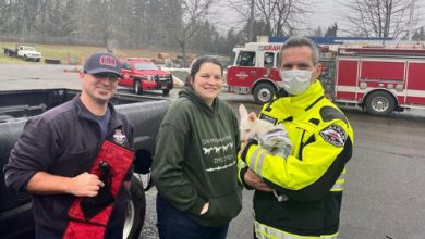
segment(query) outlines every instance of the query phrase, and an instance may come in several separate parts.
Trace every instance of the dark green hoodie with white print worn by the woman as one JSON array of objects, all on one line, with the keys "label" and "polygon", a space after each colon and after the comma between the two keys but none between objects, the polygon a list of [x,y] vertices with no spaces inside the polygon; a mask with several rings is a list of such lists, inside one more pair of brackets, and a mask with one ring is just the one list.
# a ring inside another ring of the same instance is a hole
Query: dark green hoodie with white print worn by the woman
[{"label": "dark green hoodie with white print worn by the woman", "polygon": [[[226,225],[242,209],[238,150],[238,118],[230,106],[216,98],[211,109],[183,88],[157,137],[151,175],[158,193],[202,226]],[[199,215],[206,202],[208,212]]]}]

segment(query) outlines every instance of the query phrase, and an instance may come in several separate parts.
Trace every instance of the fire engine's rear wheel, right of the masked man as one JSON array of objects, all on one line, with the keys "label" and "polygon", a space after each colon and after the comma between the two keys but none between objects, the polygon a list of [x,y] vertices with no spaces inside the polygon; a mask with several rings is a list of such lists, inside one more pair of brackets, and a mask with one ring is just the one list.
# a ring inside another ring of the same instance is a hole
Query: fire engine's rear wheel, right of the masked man
[{"label": "fire engine's rear wheel, right of the masked man", "polygon": [[375,91],[367,96],[365,106],[372,115],[386,116],[396,109],[396,101],[387,91]]}]

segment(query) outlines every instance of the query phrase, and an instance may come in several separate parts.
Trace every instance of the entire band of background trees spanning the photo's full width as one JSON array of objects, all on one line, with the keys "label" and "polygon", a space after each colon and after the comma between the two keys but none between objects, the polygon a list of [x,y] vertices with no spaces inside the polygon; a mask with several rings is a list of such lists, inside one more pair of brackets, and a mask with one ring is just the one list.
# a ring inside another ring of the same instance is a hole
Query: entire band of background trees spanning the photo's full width
[{"label": "entire band of background trees spanning the photo's full width", "polygon": [[[220,2],[223,0],[2,0],[0,35],[27,42],[105,46],[109,51],[153,48],[179,50],[183,55],[186,51],[229,55],[235,45],[255,40],[250,36],[337,36],[338,32],[405,39],[408,26],[416,26],[421,15],[417,8],[414,14],[409,11],[417,0],[336,1],[342,14],[338,25],[328,26],[325,33],[320,27],[306,32],[317,1],[228,0],[226,8],[235,12],[234,27],[222,32],[211,21],[218,11],[228,11],[214,10]],[[418,27],[414,37],[421,40],[423,33]]]}]

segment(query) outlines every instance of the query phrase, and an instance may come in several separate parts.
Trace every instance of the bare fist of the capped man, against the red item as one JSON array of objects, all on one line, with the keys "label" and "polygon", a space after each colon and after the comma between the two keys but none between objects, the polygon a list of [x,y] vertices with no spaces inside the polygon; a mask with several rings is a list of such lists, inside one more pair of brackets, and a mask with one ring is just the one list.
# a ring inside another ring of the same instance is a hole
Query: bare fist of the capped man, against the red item
[{"label": "bare fist of the capped man, against the red item", "polygon": [[71,178],[69,192],[76,197],[95,197],[105,184],[95,174],[87,172]]}]

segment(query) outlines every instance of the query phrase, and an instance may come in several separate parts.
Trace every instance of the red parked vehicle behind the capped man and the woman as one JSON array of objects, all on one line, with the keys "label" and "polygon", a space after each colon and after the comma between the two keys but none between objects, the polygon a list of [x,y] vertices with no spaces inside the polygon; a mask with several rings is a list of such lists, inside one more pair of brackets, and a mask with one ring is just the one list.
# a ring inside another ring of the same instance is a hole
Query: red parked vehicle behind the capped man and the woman
[{"label": "red parked vehicle behind the capped man and the woman", "polygon": [[160,70],[150,59],[126,58],[120,61],[124,76],[119,80],[120,86],[132,87],[137,95],[145,90],[162,90],[166,96],[173,88],[171,73]]}]

